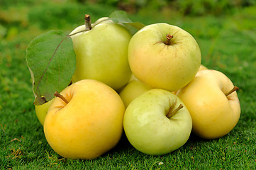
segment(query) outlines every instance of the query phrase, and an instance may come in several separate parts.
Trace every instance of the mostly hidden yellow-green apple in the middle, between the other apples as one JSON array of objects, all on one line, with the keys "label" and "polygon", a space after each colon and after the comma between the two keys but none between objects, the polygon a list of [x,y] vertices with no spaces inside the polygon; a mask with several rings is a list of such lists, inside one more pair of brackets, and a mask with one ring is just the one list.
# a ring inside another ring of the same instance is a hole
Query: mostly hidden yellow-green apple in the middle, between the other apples
[{"label": "mostly hidden yellow-green apple in the middle, between the other apples", "polygon": [[122,98],[123,103],[127,108],[134,98],[140,96],[140,94],[143,94],[149,89],[151,88],[142,82],[138,80],[132,80],[122,89],[122,91],[119,93],[119,96]]}]

